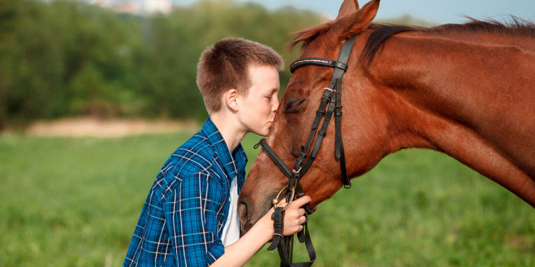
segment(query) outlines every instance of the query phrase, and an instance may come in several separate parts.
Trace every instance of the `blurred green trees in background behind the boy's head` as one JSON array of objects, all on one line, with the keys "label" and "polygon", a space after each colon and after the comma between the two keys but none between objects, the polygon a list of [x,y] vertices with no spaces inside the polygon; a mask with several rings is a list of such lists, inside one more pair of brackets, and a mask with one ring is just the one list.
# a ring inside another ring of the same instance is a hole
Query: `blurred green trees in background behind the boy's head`
[{"label": "blurred green trees in background behind the boy's head", "polygon": [[[114,13],[79,1],[0,1],[0,130],[36,119],[206,117],[196,88],[201,51],[220,38],[256,40],[297,58],[289,32],[315,13],[200,1],[170,15]],[[290,73],[281,74],[288,81]],[[284,84],[281,84],[284,86]]]}]

